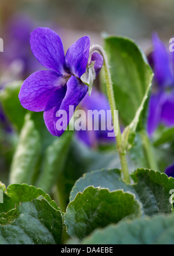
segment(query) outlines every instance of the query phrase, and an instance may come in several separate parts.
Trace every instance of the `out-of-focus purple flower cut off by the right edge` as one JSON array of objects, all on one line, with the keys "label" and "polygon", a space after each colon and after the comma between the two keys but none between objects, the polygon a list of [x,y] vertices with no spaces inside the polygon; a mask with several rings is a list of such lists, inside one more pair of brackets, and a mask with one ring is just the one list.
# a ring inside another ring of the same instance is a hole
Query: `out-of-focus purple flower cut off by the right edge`
[{"label": "out-of-focus purple flower cut off by the right edge", "polygon": [[153,52],[148,60],[154,70],[154,84],[149,102],[147,131],[153,135],[158,125],[174,125],[174,59],[153,34]]}]

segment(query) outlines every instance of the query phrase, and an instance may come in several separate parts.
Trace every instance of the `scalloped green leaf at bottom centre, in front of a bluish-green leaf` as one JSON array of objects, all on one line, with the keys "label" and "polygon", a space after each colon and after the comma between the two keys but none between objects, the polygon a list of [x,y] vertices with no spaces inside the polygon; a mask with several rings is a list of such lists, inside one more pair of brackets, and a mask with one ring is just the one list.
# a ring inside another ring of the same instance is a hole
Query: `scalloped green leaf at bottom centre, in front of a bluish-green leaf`
[{"label": "scalloped green leaf at bottom centre, in front of a bluish-green leaf", "polygon": [[97,227],[140,215],[140,204],[133,194],[90,186],[70,202],[64,214],[64,223],[71,237],[82,239]]}]

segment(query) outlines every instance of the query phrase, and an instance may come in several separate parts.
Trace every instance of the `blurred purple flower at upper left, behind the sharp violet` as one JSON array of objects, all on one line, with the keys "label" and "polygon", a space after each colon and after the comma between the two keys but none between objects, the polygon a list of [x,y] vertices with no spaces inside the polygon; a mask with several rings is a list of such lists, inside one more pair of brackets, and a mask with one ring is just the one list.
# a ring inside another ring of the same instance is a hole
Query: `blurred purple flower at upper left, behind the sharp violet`
[{"label": "blurred purple flower at upper left, behind the sharp violet", "polygon": [[33,20],[24,15],[13,16],[6,25],[2,70],[7,69],[9,79],[26,79],[34,70],[41,69],[30,49],[30,33],[34,27]]}]

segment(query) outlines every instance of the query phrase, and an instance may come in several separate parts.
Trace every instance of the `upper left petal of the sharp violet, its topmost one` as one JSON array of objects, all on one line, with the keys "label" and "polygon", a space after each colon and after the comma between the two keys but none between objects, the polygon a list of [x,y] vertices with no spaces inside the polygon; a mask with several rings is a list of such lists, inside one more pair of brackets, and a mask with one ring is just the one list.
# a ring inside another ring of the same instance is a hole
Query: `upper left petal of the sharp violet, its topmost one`
[{"label": "upper left petal of the sharp violet, its topmost one", "polygon": [[30,37],[31,50],[38,61],[47,69],[66,74],[64,49],[61,38],[47,27],[38,27]]}]

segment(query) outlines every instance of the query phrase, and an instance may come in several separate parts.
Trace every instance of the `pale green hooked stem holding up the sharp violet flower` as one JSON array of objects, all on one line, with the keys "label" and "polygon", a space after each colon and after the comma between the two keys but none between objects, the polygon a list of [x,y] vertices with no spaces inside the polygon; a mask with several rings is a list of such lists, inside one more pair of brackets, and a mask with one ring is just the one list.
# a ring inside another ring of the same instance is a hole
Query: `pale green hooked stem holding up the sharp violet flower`
[{"label": "pale green hooked stem holding up the sharp violet flower", "polygon": [[[129,176],[129,170],[128,170],[128,163],[126,159],[126,150],[123,146],[123,141],[122,141],[122,136],[121,136],[121,129],[119,126],[119,121],[118,121],[118,116],[117,116],[117,109],[115,105],[115,98],[114,98],[114,90],[113,90],[113,83],[111,81],[111,74],[109,70],[109,65],[107,61],[107,55],[104,52],[104,49],[100,47],[100,45],[93,45],[92,48],[90,49],[90,54],[89,54],[89,60],[91,59],[91,56],[94,52],[98,52],[103,56],[103,67],[104,67],[104,74],[106,77],[106,88],[107,88],[107,96],[108,96],[108,101],[110,103],[110,108],[111,108],[111,113],[113,117],[113,123],[114,123],[114,131],[117,137],[117,150],[119,154],[119,158],[121,161],[121,168],[122,172],[124,175],[124,180],[126,183],[130,183],[131,179]],[[118,123],[117,123],[118,122]]]}]

